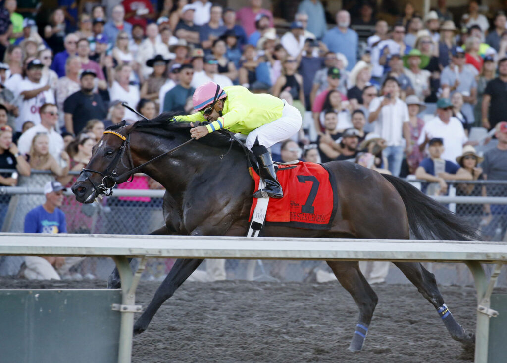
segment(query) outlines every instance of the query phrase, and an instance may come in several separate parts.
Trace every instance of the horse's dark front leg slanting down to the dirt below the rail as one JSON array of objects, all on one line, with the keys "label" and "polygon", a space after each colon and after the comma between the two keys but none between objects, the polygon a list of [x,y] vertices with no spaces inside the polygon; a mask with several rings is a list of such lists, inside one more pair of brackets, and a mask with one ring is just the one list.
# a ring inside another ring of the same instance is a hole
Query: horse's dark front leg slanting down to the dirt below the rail
[{"label": "horse's dark front leg slanting down to the dirt below the rail", "polygon": [[155,292],[152,301],[134,324],[134,334],[140,334],[146,330],[150,321],[160,306],[169,299],[174,291],[187,280],[187,278],[199,267],[203,259],[178,258],[169,274]]}]

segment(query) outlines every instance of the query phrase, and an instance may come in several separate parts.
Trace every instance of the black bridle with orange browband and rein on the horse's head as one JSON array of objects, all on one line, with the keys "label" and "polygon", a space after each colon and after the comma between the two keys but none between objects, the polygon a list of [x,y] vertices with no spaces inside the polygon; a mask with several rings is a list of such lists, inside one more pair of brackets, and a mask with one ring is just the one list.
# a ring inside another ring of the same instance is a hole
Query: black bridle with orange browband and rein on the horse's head
[{"label": "black bridle with orange browband and rein on the horse's head", "polygon": [[[127,136],[123,136],[120,133],[117,133],[116,131],[106,130],[106,131],[104,131],[104,135],[105,134],[112,134],[112,135],[118,136],[120,139],[123,140],[123,142],[122,142],[122,145],[120,146],[120,152],[118,152],[116,154],[115,158],[113,159],[113,161],[111,161],[111,163],[104,170],[104,172],[99,172],[98,170],[93,170],[93,169],[88,169],[88,168],[83,168],[83,170],[81,171],[81,173],[84,173],[84,175],[86,176],[86,179],[88,179],[90,181],[90,183],[92,184],[93,190],[95,191],[95,196],[113,195],[113,188],[116,186],[116,184],[118,184],[118,180],[121,180],[122,178],[124,178],[126,176],[130,176],[129,180],[127,180],[127,183],[130,183],[134,178],[134,173],[136,173],[138,170],[142,169],[147,164],[161,158],[162,156],[171,154],[174,151],[187,145],[192,140],[195,140],[193,138],[190,140],[187,140],[183,144],[180,144],[180,145],[172,148],[171,150],[164,152],[163,154],[155,156],[153,159],[150,159],[147,162],[144,162],[134,168],[134,162],[132,161],[132,155],[130,154],[130,132],[127,134]],[[128,166],[126,166],[123,161],[123,156],[125,153],[127,154],[127,157],[128,157],[128,162],[129,162]],[[125,168],[127,168],[128,171],[126,171],[125,173],[123,173],[121,175],[116,176],[116,173],[117,173],[116,167],[118,165],[118,161],[121,161],[122,165]],[[97,174],[101,175],[102,176],[102,183],[99,185],[95,185],[95,183],[90,178],[90,173],[97,173]]]}]

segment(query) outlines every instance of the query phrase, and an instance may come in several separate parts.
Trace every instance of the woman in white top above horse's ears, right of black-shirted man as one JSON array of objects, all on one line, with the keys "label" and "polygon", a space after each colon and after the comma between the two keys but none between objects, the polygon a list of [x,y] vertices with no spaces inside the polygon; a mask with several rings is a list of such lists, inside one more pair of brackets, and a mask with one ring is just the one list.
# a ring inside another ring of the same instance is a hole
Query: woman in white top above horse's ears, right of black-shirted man
[{"label": "woman in white top above horse's ears, right of black-shirted man", "polygon": [[[109,95],[111,100],[122,100],[134,108],[139,102],[139,88],[130,84],[130,74],[132,68],[128,64],[118,65],[115,69],[114,80],[111,79]],[[133,123],[139,119],[134,112],[125,110],[125,120],[127,123]]]}]

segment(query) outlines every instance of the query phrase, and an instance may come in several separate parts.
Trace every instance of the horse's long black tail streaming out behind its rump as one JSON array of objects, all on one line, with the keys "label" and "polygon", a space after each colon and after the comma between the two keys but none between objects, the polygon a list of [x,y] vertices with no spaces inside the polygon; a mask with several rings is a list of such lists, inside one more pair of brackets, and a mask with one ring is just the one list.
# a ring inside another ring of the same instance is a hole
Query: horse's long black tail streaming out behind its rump
[{"label": "horse's long black tail streaming out behind its rump", "polygon": [[410,226],[417,240],[480,240],[477,229],[406,181],[382,174],[402,197]]}]

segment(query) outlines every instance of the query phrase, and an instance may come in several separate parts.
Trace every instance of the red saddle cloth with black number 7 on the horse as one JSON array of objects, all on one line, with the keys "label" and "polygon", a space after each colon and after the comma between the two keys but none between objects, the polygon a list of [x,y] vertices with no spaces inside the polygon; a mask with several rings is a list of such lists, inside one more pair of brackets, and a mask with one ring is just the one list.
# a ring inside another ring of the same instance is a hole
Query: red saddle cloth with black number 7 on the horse
[{"label": "red saddle cloth with black number 7 on the horse", "polygon": [[[259,190],[259,175],[249,168]],[[296,165],[279,165],[276,174],[283,190],[283,198],[271,198],[266,214],[266,224],[289,227],[327,229],[331,226],[338,207],[336,181],[325,167],[313,162],[300,161]],[[251,221],[257,206],[253,198],[250,208]]]}]

